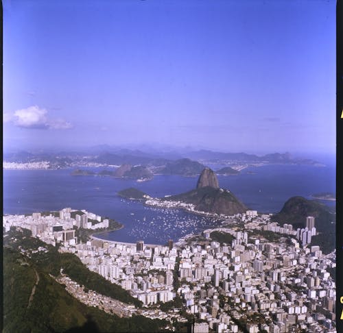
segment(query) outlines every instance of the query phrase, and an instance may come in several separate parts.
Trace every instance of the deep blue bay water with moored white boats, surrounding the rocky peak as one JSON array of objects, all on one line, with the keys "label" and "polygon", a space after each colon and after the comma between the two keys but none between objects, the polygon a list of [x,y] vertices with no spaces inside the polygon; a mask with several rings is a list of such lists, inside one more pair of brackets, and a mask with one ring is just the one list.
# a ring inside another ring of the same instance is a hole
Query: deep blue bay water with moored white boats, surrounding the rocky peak
[{"label": "deep blue bay water with moored white boats, surrounding the rocky peak", "polygon": [[[24,214],[65,207],[86,209],[123,223],[121,230],[102,234],[102,238],[130,243],[144,240],[165,244],[169,239],[178,240],[219,223],[217,219],[183,210],[148,208],[117,196],[119,190],[128,187],[139,188],[152,197],[174,195],[195,188],[198,177],[156,175],[151,181],[139,183],[113,177],[71,176],[71,171],[4,170],[3,213]],[[278,212],[289,197],[300,195],[311,199],[314,193],[335,193],[335,166],[250,167],[240,175],[219,176],[218,180],[222,188],[232,191],[248,208]]]}]

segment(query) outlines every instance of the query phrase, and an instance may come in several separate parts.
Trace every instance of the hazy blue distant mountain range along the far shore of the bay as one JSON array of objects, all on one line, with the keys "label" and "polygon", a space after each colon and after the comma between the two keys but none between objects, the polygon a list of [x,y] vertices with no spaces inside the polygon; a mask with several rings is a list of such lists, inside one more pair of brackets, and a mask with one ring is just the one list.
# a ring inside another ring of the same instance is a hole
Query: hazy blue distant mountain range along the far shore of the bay
[{"label": "hazy blue distant mountain range along the far shore of the bay", "polygon": [[[172,175],[198,175],[206,164],[319,164],[314,160],[293,158],[289,153],[270,153],[257,156],[248,153],[222,153],[209,150],[190,151],[188,153],[154,152],[145,153],[137,149],[118,149],[117,151],[62,151],[60,153],[30,153],[20,151],[5,153],[4,162],[41,162],[50,163],[51,169],[64,167],[101,164],[103,166],[119,166],[131,164],[156,168],[156,173]],[[221,171],[222,173],[224,171]],[[225,174],[233,174],[225,172]]]}]

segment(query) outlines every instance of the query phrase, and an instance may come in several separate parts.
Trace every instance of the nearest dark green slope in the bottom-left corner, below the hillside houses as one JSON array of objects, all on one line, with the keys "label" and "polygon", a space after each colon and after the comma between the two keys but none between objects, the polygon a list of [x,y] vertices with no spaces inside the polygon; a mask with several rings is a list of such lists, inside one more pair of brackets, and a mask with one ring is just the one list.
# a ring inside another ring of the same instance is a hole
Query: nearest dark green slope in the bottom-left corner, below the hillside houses
[{"label": "nearest dark green slope in the bottom-left corner, below the hillside houses", "polygon": [[[34,262],[8,247],[3,250],[3,332],[162,332],[167,324],[141,316],[119,318],[87,307]],[[39,282],[31,305],[29,295]],[[88,331],[88,329],[92,329]]]}]

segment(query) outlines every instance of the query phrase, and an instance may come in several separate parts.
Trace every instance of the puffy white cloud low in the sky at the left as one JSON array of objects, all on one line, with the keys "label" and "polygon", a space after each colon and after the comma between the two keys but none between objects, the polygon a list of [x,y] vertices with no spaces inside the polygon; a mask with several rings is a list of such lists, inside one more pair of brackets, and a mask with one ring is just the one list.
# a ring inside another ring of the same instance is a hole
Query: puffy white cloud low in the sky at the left
[{"label": "puffy white cloud low in the sky at the left", "polygon": [[46,109],[29,106],[26,109],[16,110],[14,114],[3,114],[3,122],[12,121],[18,127],[43,130],[67,130],[73,127],[64,119],[50,119],[47,113]]}]

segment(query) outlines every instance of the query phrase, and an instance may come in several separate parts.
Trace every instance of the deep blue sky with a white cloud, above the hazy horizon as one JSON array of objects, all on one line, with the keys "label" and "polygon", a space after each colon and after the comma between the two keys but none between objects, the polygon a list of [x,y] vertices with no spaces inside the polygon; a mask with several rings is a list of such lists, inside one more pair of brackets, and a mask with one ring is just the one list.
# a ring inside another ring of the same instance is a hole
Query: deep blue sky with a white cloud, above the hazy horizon
[{"label": "deep blue sky with a white cloud, above the hazy horizon", "polygon": [[335,151],[335,1],[4,0],[5,148]]}]

